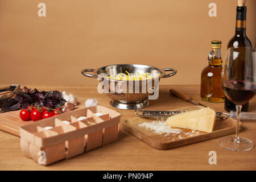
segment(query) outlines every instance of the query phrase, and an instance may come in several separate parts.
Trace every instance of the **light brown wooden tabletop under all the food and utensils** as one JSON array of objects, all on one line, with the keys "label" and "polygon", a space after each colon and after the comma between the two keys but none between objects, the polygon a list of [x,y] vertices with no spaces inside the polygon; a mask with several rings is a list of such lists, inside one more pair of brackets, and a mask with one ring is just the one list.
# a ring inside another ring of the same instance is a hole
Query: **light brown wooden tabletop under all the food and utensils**
[{"label": "light brown wooden tabletop under all the food and utensils", "polygon": [[[6,85],[0,85],[6,86]],[[23,85],[22,85],[23,86]],[[119,110],[109,105],[110,98],[97,93],[96,86],[43,86],[26,85],[39,90],[59,90],[74,94],[80,105],[88,98],[97,98],[99,104],[117,110],[125,118],[135,117],[133,110]],[[210,104],[200,100],[200,85],[160,85],[158,100],[150,100],[148,110],[170,110],[192,106],[179,98],[170,96],[168,90],[174,88],[188,94],[199,102],[218,111],[224,111],[224,103]],[[256,111],[256,97],[250,101],[250,111]],[[256,122],[243,121],[241,137],[256,142]],[[221,137],[223,138],[223,137]],[[26,158],[20,150],[19,137],[0,131],[0,170],[255,170],[256,149],[234,152],[220,147],[220,138],[173,148],[156,150],[146,143],[120,130],[119,140],[75,158],[63,160],[51,166],[40,166]],[[216,151],[217,164],[210,165],[209,151]]]}]

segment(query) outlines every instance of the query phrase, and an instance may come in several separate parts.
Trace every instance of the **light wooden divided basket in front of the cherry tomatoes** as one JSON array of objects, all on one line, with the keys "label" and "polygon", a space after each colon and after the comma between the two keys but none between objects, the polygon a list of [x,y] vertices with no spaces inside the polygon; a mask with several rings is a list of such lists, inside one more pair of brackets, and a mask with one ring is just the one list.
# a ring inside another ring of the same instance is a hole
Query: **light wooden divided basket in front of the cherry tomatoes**
[{"label": "light wooden divided basket in front of the cherry tomatoes", "polygon": [[[102,113],[97,117],[95,113]],[[78,121],[80,116],[87,118]],[[20,146],[28,158],[49,165],[118,139],[120,114],[103,106],[73,110],[20,127]],[[69,121],[70,124],[63,121]],[[44,127],[51,126],[46,130]]]}]

